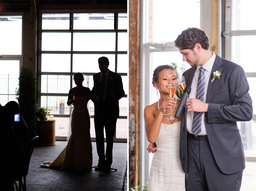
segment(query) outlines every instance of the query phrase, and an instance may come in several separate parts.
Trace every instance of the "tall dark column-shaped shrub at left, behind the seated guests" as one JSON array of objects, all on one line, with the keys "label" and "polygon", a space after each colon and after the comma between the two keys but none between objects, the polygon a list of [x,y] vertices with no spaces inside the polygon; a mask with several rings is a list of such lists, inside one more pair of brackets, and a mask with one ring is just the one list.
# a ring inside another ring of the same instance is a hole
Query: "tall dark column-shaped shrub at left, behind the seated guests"
[{"label": "tall dark column-shaped shrub at left, behind the seated guests", "polygon": [[16,99],[19,102],[20,113],[26,121],[35,118],[36,111],[36,78],[30,68],[21,67],[19,88],[16,88]]}]

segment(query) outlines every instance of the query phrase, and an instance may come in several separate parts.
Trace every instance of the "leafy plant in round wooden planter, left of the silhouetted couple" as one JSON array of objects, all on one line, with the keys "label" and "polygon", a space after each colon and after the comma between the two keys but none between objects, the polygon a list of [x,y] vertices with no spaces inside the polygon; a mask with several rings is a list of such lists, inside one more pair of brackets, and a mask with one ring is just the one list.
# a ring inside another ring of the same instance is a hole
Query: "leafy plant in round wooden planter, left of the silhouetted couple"
[{"label": "leafy plant in round wooden planter, left of the silhouetted couple", "polygon": [[47,120],[46,115],[51,110],[37,105],[35,112],[36,135],[38,135],[38,145],[55,145],[55,120]]}]

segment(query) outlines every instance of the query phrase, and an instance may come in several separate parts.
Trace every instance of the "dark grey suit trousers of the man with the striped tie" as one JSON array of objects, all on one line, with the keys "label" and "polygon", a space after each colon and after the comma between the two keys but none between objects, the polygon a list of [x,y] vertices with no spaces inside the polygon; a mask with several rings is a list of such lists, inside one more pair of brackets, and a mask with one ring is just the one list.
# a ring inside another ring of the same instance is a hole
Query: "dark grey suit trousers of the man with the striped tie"
[{"label": "dark grey suit trousers of the man with the striped tie", "polygon": [[187,134],[190,191],[239,191],[243,171],[224,174],[214,159],[207,135]]}]

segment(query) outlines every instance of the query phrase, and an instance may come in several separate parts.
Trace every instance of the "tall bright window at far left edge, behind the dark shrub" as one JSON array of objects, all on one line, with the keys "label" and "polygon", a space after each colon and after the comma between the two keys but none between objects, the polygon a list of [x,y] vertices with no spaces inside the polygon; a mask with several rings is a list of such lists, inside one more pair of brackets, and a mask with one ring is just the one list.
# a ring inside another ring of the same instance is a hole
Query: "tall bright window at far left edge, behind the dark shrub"
[{"label": "tall bright window at far left edge, behind the dark shrub", "polygon": [[17,101],[22,66],[23,13],[0,13],[0,103]]}]

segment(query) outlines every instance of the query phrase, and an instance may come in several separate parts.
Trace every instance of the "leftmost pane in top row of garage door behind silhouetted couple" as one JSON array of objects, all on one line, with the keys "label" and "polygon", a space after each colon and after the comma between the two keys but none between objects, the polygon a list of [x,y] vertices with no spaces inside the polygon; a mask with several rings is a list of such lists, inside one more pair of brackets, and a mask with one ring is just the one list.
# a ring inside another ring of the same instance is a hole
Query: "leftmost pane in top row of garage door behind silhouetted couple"
[{"label": "leftmost pane in top row of garage door behind silhouetted couple", "polygon": [[70,15],[42,14],[42,29],[69,29]]}]

